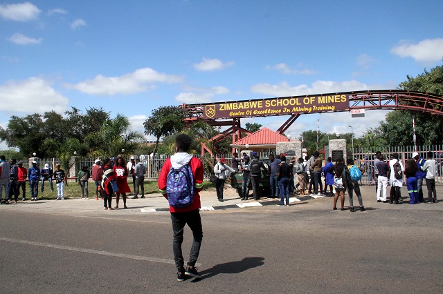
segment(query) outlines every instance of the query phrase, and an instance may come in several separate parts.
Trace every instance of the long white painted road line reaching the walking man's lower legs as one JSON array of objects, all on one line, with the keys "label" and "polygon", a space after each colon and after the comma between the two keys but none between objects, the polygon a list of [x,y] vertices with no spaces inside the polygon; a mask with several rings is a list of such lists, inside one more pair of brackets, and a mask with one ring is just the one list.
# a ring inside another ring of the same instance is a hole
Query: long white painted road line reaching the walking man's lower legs
[{"label": "long white painted road line reaching the walking man's lower legs", "polygon": [[[5,237],[0,237],[0,241],[33,245],[33,246],[41,246],[41,247],[47,247],[47,248],[56,248],[56,249],[62,249],[62,250],[67,250],[67,251],[76,251],[76,252],[82,252],[82,253],[92,253],[92,254],[106,255],[106,256],[112,256],[112,257],[123,257],[123,258],[127,258],[127,259],[143,260],[146,262],[161,262],[162,264],[175,264],[174,260],[172,260],[172,259],[147,257],[147,256],[139,256],[139,255],[131,255],[131,254],[122,254],[122,253],[113,253],[113,252],[99,251],[99,250],[94,250],[94,249],[76,248],[76,247],[72,247],[72,246],[34,242],[34,241],[28,241],[28,240],[19,240],[19,239],[10,239],[10,238],[5,238]],[[196,264],[196,265],[201,266],[201,264]]]}]

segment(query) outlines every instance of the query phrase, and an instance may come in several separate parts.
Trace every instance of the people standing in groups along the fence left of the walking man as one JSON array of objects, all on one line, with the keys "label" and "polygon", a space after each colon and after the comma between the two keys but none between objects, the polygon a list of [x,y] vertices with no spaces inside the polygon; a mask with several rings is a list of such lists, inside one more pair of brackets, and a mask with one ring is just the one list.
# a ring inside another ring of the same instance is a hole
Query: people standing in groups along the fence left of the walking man
[{"label": "people standing in groups along the fence left of the walking man", "polygon": [[[23,161],[10,159],[6,161],[4,155],[0,155],[0,204],[11,204],[21,200],[26,200],[26,182],[30,189],[30,200],[37,201],[40,193],[44,192],[44,183],[48,182],[51,191],[54,191],[53,180],[57,188],[57,200],[64,200],[64,186],[66,182],[66,173],[60,164],[55,164],[55,169],[49,164],[44,164],[44,168],[40,169],[38,162],[30,161],[30,168],[23,166]],[[134,179],[134,197],[138,198],[138,193],[145,198],[144,174],[145,166],[139,159],[131,157],[126,164],[123,156],[119,155],[114,161],[109,158],[101,160],[96,159],[91,170],[88,166],[82,166],[78,173],[77,182],[80,185],[80,195],[82,199],[89,199],[89,178],[92,176],[96,186],[96,200],[104,199],[105,209],[118,208],[120,195],[123,198],[123,208],[127,208],[127,195],[131,193],[131,189],[127,184],[127,176],[132,175]],[[40,190],[39,190],[40,186]],[[3,199],[3,190],[5,191]],[[21,193],[20,193],[21,190]],[[111,199],[116,196],[116,206],[112,208]]]}]

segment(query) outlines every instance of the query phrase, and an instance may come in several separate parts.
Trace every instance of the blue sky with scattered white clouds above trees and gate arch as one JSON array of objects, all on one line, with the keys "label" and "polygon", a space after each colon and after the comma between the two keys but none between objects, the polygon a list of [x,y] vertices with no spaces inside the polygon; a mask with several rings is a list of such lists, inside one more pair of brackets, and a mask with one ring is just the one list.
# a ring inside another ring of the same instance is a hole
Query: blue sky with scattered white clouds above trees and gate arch
[{"label": "blue sky with scattered white clouds above trees and gate arch", "polygon": [[[3,0],[0,126],[94,107],[143,132],[160,106],[396,89],[442,65],[442,12],[441,0]],[[386,113],[302,115],[285,133],[318,120],[322,132],[352,126],[359,137]]]}]

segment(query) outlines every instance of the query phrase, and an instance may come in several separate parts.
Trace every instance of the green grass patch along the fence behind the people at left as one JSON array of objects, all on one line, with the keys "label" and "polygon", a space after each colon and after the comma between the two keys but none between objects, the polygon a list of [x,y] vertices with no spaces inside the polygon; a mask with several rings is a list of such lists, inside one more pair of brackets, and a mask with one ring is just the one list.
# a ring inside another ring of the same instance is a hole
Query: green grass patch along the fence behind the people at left
[{"label": "green grass patch along the fence behind the people at left", "polygon": [[[131,188],[132,191],[132,181],[128,181],[127,183],[129,185],[129,188]],[[57,199],[57,187],[55,186],[55,181],[53,181],[54,191],[51,191],[51,186],[49,186],[49,183],[47,181],[44,182],[44,192],[41,192],[41,182],[39,182],[39,199]],[[215,188],[215,184],[205,181],[204,182],[204,190]],[[132,191],[134,192],[134,191]],[[152,181],[145,181],[145,194],[154,194],[159,193],[159,187],[157,186],[157,182]],[[88,183],[88,195],[89,198],[95,198],[96,197],[96,184],[94,182]],[[66,199],[73,199],[73,198],[81,198],[81,188],[80,184],[76,182],[69,182],[67,186],[64,186],[64,197]],[[21,190],[19,199],[21,199]],[[30,199],[30,188],[29,185],[26,184],[26,199]]]}]

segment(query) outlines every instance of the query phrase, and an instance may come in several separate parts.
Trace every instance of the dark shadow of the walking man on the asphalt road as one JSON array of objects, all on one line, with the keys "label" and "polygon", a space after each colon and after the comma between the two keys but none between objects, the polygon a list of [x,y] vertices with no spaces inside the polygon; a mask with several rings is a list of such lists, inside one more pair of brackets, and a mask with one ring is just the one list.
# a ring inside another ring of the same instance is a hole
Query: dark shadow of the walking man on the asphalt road
[{"label": "dark shadow of the walking man on the asphalt road", "polygon": [[[212,268],[208,268],[200,272],[202,278],[213,277],[220,273],[242,273],[250,268],[262,266],[264,264],[264,257],[244,257],[238,262],[226,262],[225,264],[217,264]],[[198,282],[199,279],[195,280]]]}]

